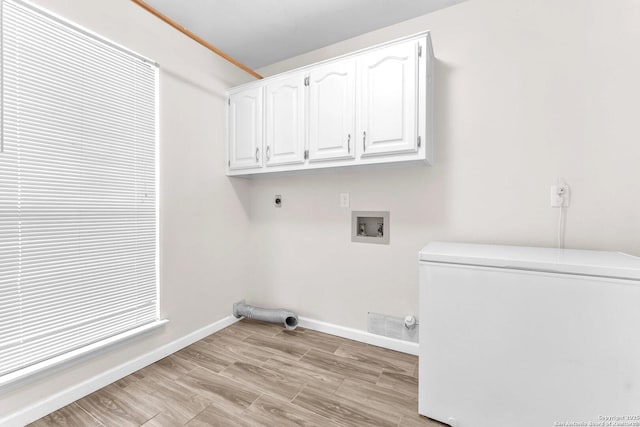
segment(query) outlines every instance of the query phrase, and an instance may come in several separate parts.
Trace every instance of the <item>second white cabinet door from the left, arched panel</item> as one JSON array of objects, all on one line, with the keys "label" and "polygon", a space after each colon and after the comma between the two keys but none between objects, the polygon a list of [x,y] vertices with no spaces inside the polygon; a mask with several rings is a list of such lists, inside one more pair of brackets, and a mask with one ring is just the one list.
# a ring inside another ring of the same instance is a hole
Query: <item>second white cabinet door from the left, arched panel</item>
[{"label": "second white cabinet door from the left, arched panel", "polygon": [[267,166],[304,162],[304,76],[278,79],[266,87]]}]

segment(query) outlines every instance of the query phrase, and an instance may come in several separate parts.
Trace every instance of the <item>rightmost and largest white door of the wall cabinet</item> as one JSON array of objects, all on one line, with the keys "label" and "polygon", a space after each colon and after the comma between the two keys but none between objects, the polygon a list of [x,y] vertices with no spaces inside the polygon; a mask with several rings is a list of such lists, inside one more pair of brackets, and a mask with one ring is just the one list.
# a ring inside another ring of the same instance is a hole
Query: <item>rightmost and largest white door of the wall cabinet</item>
[{"label": "rightmost and largest white door of the wall cabinet", "polygon": [[417,151],[418,42],[360,58],[361,156]]}]

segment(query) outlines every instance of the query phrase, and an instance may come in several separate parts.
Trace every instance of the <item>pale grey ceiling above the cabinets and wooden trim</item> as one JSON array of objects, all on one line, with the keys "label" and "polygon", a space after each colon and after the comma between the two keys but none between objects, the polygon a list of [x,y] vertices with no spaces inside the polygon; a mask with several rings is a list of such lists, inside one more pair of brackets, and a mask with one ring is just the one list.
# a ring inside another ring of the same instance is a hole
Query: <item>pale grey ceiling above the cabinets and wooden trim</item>
[{"label": "pale grey ceiling above the cabinets and wooden trim", "polygon": [[463,0],[147,0],[257,69]]}]

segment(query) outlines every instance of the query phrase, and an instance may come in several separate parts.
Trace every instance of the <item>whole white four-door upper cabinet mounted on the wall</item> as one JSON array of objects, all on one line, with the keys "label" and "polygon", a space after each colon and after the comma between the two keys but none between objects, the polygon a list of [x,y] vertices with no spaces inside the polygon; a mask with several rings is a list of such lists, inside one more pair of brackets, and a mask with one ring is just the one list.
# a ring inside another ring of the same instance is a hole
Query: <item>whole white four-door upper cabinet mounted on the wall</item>
[{"label": "whole white four-door upper cabinet mounted on the wall", "polygon": [[231,89],[227,174],[431,164],[433,63],[425,32]]}]

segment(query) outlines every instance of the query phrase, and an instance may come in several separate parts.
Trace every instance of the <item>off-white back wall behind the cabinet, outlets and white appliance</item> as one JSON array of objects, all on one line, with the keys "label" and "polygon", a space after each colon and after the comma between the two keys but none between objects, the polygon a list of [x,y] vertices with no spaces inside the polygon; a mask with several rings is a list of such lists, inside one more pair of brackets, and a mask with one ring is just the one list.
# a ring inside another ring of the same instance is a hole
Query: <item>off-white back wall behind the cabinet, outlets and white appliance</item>
[{"label": "off-white back wall behind the cabinet, outlets and white appliance", "polygon": [[[368,311],[417,313],[429,241],[554,246],[557,177],[567,247],[640,255],[639,21],[636,0],[470,0],[259,70],[431,30],[436,163],[254,179],[250,302],[358,329]],[[350,242],[340,192],[391,212],[389,246]]]}]

